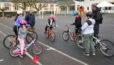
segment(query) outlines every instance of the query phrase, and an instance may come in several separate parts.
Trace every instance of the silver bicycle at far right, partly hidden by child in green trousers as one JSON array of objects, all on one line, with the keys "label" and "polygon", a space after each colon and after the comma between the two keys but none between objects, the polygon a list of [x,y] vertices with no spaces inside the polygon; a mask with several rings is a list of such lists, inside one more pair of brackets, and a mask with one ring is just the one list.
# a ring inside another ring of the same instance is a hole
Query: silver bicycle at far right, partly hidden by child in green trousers
[{"label": "silver bicycle at far right, partly hidden by child in green trousers", "polygon": [[[82,35],[83,38],[83,35]],[[100,50],[100,52],[104,55],[104,56],[108,56],[108,57],[112,57],[114,56],[114,44],[107,39],[98,39],[96,37],[93,36],[93,43],[94,43],[94,47],[96,50]],[[80,44],[80,43],[79,43]],[[84,40],[82,40],[82,46],[84,48]]]}]

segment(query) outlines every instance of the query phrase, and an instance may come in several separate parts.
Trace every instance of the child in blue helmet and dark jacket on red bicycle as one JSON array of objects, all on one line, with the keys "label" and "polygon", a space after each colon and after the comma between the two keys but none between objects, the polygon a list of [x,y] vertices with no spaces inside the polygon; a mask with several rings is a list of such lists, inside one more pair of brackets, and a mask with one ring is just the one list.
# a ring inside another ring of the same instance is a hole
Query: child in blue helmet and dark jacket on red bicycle
[{"label": "child in blue helmet and dark jacket on red bicycle", "polygon": [[77,34],[77,33],[81,32],[81,26],[82,26],[82,24],[81,24],[81,16],[78,14],[77,11],[75,11],[73,13],[73,15],[76,16],[76,18],[75,18],[75,22],[72,25],[75,25],[75,27],[76,27],[75,33]]}]

